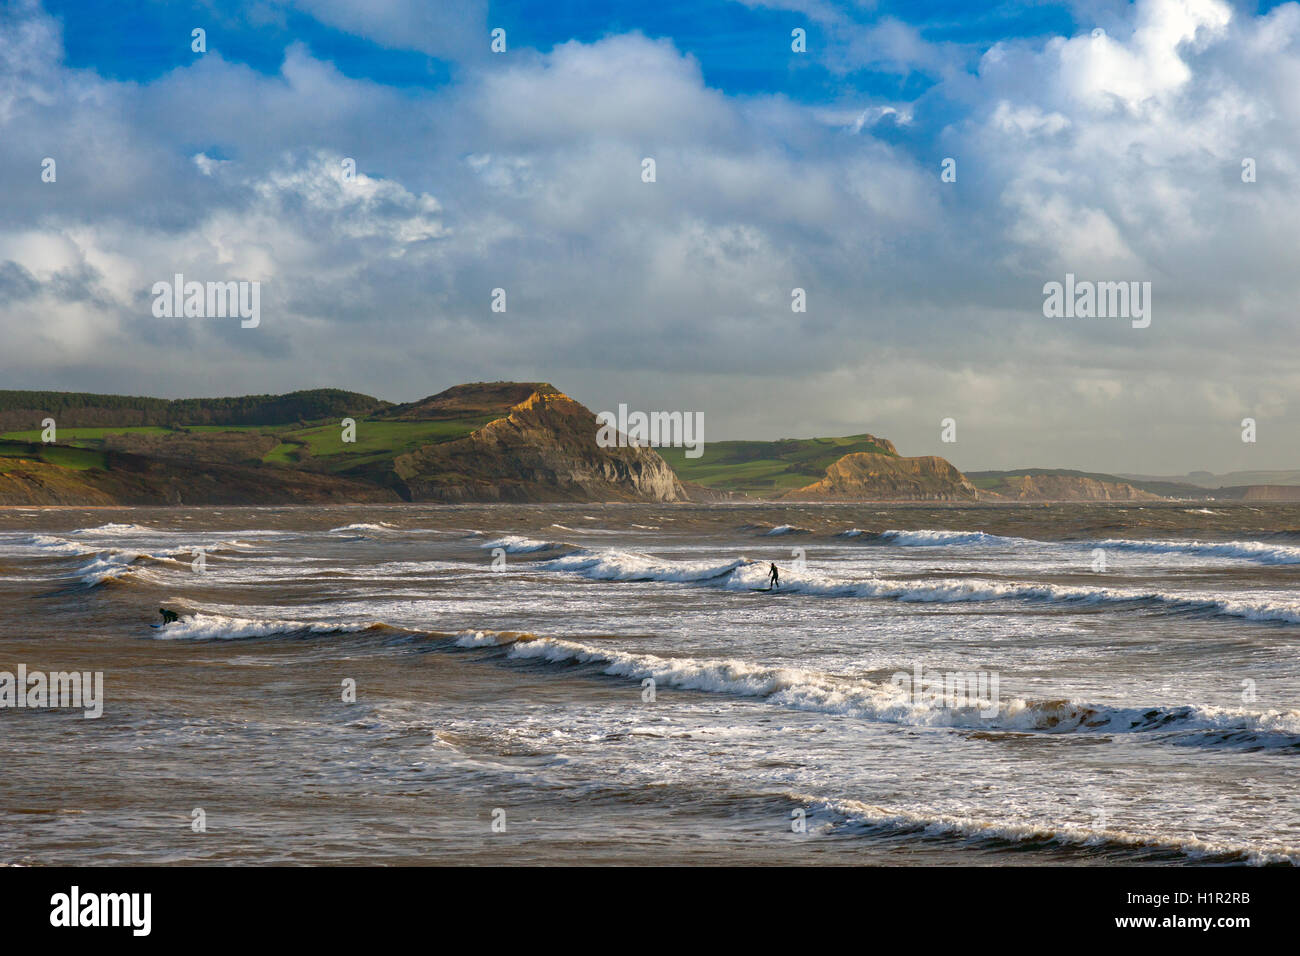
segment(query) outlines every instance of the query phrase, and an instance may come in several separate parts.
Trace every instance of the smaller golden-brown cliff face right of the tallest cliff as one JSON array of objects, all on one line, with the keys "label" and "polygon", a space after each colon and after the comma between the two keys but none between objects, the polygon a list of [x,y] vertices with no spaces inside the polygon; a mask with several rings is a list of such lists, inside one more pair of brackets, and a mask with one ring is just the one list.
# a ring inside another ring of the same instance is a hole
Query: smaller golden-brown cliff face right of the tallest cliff
[{"label": "smaller golden-brown cliff face right of the tallest cliff", "polygon": [[857,451],[826,477],[781,496],[794,501],[975,501],[975,485],[942,458],[894,458]]}]

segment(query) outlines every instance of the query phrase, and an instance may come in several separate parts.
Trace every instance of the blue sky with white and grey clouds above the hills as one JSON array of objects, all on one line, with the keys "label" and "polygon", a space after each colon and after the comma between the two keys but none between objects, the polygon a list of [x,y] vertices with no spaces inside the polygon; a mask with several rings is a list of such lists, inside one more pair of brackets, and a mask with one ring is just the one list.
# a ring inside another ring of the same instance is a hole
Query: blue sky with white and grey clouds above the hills
[{"label": "blue sky with white and grey clouds above the hills", "polygon": [[[0,388],[1300,468],[1297,90],[1296,3],[0,0]],[[1044,315],[1067,274],[1150,324]]]}]

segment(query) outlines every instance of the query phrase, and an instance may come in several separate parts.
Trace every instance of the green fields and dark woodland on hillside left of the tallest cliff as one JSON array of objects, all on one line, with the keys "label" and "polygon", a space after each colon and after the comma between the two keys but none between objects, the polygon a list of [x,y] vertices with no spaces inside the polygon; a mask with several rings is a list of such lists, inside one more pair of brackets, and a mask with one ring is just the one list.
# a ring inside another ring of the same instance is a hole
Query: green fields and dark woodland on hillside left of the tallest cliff
[{"label": "green fields and dark woodland on hillside left of the tallest cliff", "polygon": [[[358,493],[360,480],[376,485],[374,493],[391,496],[404,477],[396,473],[396,459],[464,438],[507,415],[534,388],[554,392],[542,384],[474,382],[393,405],[341,389],[179,401],[0,390],[0,475],[12,479],[35,470],[31,481],[48,485],[58,481],[44,466],[105,472],[87,480],[118,493],[113,483],[126,481],[127,472],[139,472],[146,463],[157,467],[160,486],[195,468],[222,466],[226,480],[240,488],[255,480],[250,475],[274,472],[274,479],[268,475],[273,485],[302,485],[317,497],[333,493],[332,485],[321,484],[326,476],[343,483],[339,488],[348,494]],[[56,421],[56,442],[42,441],[44,418]],[[343,441],[343,419],[355,421],[355,441]],[[124,476],[114,477],[118,471]],[[183,497],[186,488],[179,484]],[[60,489],[66,499],[78,493],[73,481]]]}]

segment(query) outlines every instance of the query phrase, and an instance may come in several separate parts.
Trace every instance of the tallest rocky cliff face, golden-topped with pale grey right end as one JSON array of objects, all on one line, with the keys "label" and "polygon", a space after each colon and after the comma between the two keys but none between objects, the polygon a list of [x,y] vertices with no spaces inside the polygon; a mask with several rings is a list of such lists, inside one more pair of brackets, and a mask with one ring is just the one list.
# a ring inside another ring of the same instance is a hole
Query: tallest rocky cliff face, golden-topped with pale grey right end
[{"label": "tallest rocky cliff face, golden-topped with pale grey right end", "polygon": [[540,386],[504,418],[465,438],[394,459],[396,490],[411,501],[685,501],[685,489],[649,447],[599,447],[595,415]]}]

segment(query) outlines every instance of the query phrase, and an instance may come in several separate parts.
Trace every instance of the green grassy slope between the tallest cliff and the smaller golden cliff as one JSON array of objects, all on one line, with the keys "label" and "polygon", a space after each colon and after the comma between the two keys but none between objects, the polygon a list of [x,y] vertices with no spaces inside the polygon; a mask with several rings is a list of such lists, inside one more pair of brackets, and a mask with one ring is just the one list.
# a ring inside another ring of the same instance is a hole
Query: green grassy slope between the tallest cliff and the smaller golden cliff
[{"label": "green grassy slope between the tallest cliff and the smaller golden cliff", "polygon": [[898,454],[888,441],[871,434],[707,442],[699,458],[686,458],[685,449],[655,450],[682,481],[755,497],[771,497],[818,481],[833,462],[854,451]]}]

